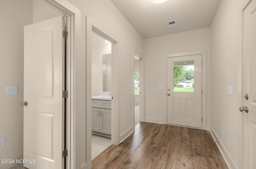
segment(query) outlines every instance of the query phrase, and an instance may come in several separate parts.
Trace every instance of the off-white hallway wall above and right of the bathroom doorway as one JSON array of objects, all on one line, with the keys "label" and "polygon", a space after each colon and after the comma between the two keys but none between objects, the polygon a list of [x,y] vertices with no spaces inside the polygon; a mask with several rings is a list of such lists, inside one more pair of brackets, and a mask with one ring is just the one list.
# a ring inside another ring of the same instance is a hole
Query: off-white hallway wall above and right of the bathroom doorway
[{"label": "off-white hallway wall above and right of the bathroom doorway", "polygon": [[[118,141],[133,130],[133,59],[134,52],[143,57],[143,38],[112,4],[110,0],[68,0],[81,10],[82,17],[89,16],[92,24],[117,41],[118,72]],[[85,20],[82,19],[82,22]],[[83,100],[81,100],[83,102]]]}]

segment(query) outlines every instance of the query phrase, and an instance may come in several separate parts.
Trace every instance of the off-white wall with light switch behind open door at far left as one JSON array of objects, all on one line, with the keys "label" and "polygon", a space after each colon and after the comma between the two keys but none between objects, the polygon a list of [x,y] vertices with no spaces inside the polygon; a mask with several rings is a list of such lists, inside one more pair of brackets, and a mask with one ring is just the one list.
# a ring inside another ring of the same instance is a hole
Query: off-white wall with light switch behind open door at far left
[{"label": "off-white wall with light switch behind open door at far left", "polygon": [[[24,26],[32,24],[32,0],[0,1],[0,159],[23,158],[23,37]],[[18,86],[17,95],[6,95],[6,86]],[[9,169],[14,164],[1,164]]]}]

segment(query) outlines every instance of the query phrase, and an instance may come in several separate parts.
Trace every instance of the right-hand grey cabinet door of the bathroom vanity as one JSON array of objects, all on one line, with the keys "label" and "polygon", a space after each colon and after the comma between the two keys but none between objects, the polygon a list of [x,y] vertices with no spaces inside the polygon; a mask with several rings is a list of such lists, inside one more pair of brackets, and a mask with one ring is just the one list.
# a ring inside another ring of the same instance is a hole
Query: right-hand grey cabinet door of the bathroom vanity
[{"label": "right-hand grey cabinet door of the bathroom vanity", "polygon": [[100,109],[100,132],[111,134],[111,110]]}]

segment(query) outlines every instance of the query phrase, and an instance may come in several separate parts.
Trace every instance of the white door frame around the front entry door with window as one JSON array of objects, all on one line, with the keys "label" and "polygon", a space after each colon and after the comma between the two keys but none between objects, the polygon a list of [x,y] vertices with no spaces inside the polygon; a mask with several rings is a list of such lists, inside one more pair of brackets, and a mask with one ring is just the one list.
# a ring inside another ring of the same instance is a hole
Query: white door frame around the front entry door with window
[{"label": "white door frame around the front entry door with window", "polygon": [[207,112],[207,59],[206,51],[194,51],[185,53],[172,53],[164,55],[164,84],[163,84],[163,106],[164,106],[164,124],[167,124],[167,58],[168,57],[182,57],[191,55],[202,55],[202,129],[209,130],[210,114]]}]

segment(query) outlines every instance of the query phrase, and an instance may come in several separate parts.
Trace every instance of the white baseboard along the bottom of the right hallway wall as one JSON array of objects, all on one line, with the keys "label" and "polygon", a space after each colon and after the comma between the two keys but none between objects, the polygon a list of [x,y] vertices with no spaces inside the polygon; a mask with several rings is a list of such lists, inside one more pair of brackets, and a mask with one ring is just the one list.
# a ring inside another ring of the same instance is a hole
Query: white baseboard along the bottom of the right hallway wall
[{"label": "white baseboard along the bottom of the right hallway wall", "polygon": [[234,164],[233,160],[230,158],[230,155],[226,151],[226,149],[222,146],[221,141],[216,136],[214,130],[212,129],[212,126],[210,126],[210,134],[212,135],[212,138],[214,141],[217,141],[216,145],[218,146],[218,149],[220,150],[221,155],[223,156],[226,164],[228,165],[229,169],[238,169],[238,167]]}]

